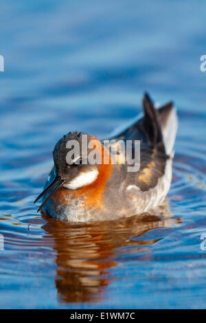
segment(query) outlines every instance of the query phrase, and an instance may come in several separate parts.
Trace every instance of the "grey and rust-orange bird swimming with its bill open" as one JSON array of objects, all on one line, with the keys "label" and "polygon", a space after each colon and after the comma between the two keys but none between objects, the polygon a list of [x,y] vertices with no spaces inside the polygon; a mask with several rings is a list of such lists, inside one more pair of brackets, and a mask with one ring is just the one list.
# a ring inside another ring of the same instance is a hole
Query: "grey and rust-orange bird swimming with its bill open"
[{"label": "grey and rust-orange bird swimming with its bill open", "polygon": [[[54,147],[54,166],[45,188],[34,201],[44,197],[38,211],[57,220],[87,223],[138,216],[157,208],[170,190],[177,129],[173,103],[156,109],[145,93],[143,115],[113,131],[106,140],[79,131],[63,135]],[[80,146],[73,158],[68,142]],[[130,142],[133,157],[135,143],[139,143],[139,164],[134,170],[119,142]]]}]

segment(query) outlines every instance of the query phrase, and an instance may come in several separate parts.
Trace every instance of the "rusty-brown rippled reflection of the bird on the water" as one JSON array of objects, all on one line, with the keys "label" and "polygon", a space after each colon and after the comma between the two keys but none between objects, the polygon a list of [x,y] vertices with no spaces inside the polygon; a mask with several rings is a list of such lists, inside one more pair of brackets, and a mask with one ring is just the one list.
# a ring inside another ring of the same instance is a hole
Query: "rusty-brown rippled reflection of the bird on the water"
[{"label": "rusty-brown rippled reflection of the bird on the water", "polygon": [[[122,253],[150,254],[153,240],[144,235],[154,229],[178,224],[168,203],[154,214],[142,214],[118,221],[72,225],[44,215],[43,229],[54,238],[56,250],[56,289],[60,302],[100,302],[112,279],[110,273]],[[148,246],[148,247],[147,247]],[[147,253],[148,252],[148,253]]]}]

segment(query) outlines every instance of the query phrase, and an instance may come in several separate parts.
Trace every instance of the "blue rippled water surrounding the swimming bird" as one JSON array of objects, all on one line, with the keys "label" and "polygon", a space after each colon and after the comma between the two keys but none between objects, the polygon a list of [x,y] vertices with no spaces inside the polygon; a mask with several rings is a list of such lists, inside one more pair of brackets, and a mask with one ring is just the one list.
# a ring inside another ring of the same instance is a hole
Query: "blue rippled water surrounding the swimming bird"
[{"label": "blue rippled water surrounding the swimming bird", "polygon": [[[0,307],[205,308],[205,1],[0,7]],[[62,134],[104,137],[145,90],[178,107],[172,217],[71,226],[36,214]]]}]

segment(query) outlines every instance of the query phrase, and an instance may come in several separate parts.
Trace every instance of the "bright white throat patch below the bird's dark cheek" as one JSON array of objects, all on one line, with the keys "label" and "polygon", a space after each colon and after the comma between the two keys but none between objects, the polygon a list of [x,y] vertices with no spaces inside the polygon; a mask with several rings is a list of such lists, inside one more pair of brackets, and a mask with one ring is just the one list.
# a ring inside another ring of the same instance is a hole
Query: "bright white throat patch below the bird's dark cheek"
[{"label": "bright white throat patch below the bird's dark cheek", "polygon": [[90,170],[89,172],[82,172],[80,175],[72,179],[69,184],[65,184],[65,188],[69,188],[69,190],[76,190],[76,188],[80,188],[82,186],[89,185],[95,181],[98,177],[98,170]]}]

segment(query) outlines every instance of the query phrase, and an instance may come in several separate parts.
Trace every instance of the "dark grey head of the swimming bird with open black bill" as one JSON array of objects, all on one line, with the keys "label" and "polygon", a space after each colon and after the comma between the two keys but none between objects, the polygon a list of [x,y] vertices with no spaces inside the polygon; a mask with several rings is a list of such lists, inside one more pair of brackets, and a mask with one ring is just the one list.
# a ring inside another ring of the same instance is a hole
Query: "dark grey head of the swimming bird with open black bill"
[{"label": "dark grey head of the swimming bird with open black bill", "polygon": [[[78,190],[83,186],[91,185],[100,175],[100,165],[105,162],[105,148],[92,135],[87,133],[67,133],[64,135],[54,147],[54,171],[55,178],[52,183],[43,190],[36,198],[34,203],[47,194],[43,205],[52,197],[52,195],[60,187],[65,187],[69,190]],[[109,160],[108,164],[109,164]]]}]

